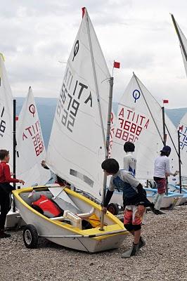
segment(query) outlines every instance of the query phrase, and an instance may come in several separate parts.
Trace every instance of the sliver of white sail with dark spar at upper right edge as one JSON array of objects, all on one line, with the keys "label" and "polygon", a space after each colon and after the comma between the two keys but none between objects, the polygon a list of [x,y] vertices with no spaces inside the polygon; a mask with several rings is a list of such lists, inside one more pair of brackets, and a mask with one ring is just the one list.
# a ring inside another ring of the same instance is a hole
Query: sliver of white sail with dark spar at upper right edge
[{"label": "sliver of white sail with dark spar at upper right edge", "polygon": [[179,44],[180,44],[180,48],[181,48],[183,64],[184,64],[184,68],[186,70],[186,76],[187,76],[187,39],[184,36],[183,32],[181,31],[181,28],[177,24],[176,20],[174,19],[174,15],[172,15],[172,20],[173,20],[173,23],[174,23],[176,34],[179,38]]}]

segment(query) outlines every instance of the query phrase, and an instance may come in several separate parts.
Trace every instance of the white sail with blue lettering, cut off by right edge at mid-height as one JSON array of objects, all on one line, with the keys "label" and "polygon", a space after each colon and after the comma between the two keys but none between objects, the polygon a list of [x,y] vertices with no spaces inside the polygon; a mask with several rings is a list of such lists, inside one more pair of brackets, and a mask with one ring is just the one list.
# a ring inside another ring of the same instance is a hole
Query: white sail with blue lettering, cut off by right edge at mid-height
[{"label": "white sail with blue lettering, cut off by right edge at mid-height", "polygon": [[187,112],[179,124],[180,152],[181,152],[181,176],[187,177]]}]

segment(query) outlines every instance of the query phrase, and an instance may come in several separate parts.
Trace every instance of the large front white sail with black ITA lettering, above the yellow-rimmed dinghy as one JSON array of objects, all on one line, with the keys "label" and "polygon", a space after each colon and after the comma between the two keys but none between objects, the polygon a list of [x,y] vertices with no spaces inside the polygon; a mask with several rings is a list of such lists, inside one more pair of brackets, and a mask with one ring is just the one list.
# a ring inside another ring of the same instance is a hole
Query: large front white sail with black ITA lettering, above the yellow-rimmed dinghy
[{"label": "large front white sail with black ITA lettering, above the yellow-rimmed dinghy", "polygon": [[109,79],[101,46],[85,9],[67,60],[46,163],[58,176],[98,200],[103,188],[101,162],[105,159]]}]

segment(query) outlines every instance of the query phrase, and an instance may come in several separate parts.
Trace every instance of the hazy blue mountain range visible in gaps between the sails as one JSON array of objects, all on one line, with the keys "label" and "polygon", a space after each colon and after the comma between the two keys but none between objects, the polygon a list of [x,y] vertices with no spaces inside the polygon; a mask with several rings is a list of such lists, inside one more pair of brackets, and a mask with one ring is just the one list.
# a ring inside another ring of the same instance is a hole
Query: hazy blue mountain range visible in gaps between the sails
[{"label": "hazy blue mountain range visible in gaps between the sails", "polygon": [[[20,114],[22,104],[25,98],[15,98],[16,100],[16,115]],[[35,98],[37,105],[37,111],[39,114],[39,121],[41,124],[41,131],[44,138],[44,143],[47,148],[49,143],[49,137],[51,134],[51,128],[53,124],[53,117],[56,111],[57,98]],[[117,103],[112,104],[113,110],[117,113]],[[166,114],[172,120],[174,126],[178,126],[181,118],[187,112],[187,107],[165,109]]]}]

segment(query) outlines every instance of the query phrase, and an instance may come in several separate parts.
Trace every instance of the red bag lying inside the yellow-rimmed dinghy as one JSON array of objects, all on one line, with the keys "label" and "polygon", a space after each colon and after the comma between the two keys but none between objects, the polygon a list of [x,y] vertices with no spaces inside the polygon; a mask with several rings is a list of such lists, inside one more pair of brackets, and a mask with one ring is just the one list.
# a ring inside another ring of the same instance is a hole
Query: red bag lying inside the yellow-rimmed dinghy
[{"label": "red bag lying inside the yellow-rimmed dinghy", "polygon": [[39,207],[44,212],[44,216],[48,218],[59,216],[62,213],[62,210],[45,195],[40,195],[39,200],[32,202],[32,206]]}]

